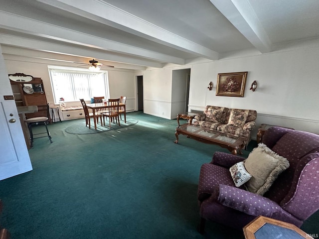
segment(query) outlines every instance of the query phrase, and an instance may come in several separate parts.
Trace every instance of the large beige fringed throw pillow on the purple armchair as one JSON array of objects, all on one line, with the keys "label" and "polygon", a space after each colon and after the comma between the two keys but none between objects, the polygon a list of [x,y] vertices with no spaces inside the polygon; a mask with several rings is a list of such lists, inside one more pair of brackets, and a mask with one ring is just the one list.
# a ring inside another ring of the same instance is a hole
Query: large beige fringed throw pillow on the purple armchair
[{"label": "large beige fringed throw pillow on the purple armchair", "polygon": [[247,190],[262,196],[279,174],[289,167],[289,161],[260,143],[244,160],[244,166],[252,175],[246,183]]}]

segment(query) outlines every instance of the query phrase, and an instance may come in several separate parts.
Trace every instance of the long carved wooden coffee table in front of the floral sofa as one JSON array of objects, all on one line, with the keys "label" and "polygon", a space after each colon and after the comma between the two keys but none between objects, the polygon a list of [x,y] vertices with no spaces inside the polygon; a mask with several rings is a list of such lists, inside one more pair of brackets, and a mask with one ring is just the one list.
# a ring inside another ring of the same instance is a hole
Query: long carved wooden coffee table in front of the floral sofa
[{"label": "long carved wooden coffee table in front of the floral sofa", "polygon": [[247,139],[244,137],[226,134],[217,130],[207,129],[185,123],[176,128],[175,143],[178,143],[178,135],[183,134],[188,138],[193,138],[197,141],[217,144],[223,148],[227,148],[232,154],[242,154],[241,149],[245,146]]}]

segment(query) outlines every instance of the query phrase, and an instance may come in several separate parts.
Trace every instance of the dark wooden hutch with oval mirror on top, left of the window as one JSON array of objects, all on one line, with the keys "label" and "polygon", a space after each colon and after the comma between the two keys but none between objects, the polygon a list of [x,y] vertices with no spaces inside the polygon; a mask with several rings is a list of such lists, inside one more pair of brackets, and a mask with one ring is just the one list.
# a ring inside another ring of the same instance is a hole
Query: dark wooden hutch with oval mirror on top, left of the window
[{"label": "dark wooden hutch with oval mirror on top, left of the window", "polygon": [[41,78],[15,73],[10,74],[9,79],[16,106],[38,107],[38,112],[25,114],[26,119],[49,117],[49,121],[51,121],[46,107],[48,103]]}]

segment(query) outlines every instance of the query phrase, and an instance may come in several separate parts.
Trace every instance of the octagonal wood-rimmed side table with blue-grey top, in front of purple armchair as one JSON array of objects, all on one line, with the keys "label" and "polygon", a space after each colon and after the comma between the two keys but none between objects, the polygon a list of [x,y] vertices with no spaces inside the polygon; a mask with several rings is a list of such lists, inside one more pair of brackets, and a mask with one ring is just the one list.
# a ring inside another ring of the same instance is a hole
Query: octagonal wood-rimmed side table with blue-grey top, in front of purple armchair
[{"label": "octagonal wood-rimmed side table with blue-grey top, in front of purple armchair", "polygon": [[312,239],[293,224],[259,216],[244,228],[245,239]]}]

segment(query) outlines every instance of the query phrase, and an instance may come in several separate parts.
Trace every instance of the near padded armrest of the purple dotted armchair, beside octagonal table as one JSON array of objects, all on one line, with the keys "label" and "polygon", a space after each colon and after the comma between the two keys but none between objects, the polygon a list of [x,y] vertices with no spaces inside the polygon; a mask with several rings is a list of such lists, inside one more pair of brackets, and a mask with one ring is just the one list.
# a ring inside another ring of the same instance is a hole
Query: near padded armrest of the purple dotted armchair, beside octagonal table
[{"label": "near padded armrest of the purple dotted armchair, beside octagonal table", "polygon": [[271,217],[282,211],[274,201],[240,188],[219,184],[216,191],[213,196],[220,204],[248,215]]}]

